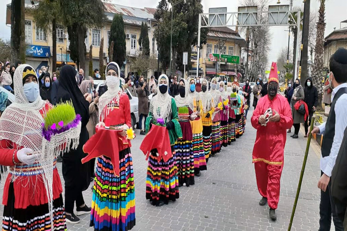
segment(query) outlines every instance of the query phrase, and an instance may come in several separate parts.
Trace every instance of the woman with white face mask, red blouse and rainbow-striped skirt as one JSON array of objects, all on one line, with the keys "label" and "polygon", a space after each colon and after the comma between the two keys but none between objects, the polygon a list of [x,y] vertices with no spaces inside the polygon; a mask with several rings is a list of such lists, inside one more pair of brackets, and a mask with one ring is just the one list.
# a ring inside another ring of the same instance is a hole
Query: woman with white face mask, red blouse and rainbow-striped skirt
[{"label": "woman with white face mask, red blouse and rainbow-striped skirt", "polygon": [[[129,128],[130,102],[120,87],[118,64],[110,62],[105,73],[108,90],[99,98],[100,122],[97,126],[104,126],[107,121],[108,126]],[[126,132],[119,132],[119,136],[126,136]],[[95,231],[126,231],[135,226],[134,171],[130,147],[128,139],[118,139],[119,176],[114,174],[109,157],[100,156],[96,161],[90,222]]]}]

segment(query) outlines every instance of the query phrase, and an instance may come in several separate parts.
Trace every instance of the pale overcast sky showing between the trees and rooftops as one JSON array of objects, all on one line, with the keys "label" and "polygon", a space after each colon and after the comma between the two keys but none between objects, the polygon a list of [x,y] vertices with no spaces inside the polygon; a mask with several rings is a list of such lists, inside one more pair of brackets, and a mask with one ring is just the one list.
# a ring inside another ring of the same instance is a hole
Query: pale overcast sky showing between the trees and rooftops
[{"label": "pale overcast sky showing between the trees and rooftops", "polygon": [[[114,3],[124,6],[133,6],[138,8],[152,7],[156,8],[159,0],[112,0]],[[227,7],[228,12],[236,12],[239,2],[242,0],[202,0],[204,12],[208,12],[212,7]],[[0,0],[0,38],[10,39],[11,30],[10,27],[5,25],[6,22],[6,4],[11,0]],[[276,5],[277,0],[270,0],[270,5]],[[294,7],[303,8],[303,0],[294,0]],[[281,0],[281,4],[289,4],[289,0]],[[319,0],[311,0],[310,11],[317,11],[319,9]],[[325,3],[325,36],[330,34],[334,27],[340,28],[340,21],[347,19],[347,0],[328,0]],[[347,26],[343,24],[342,27]],[[272,34],[272,46],[269,51],[269,62],[276,61],[277,56],[282,47],[286,47],[288,44],[288,30],[287,27],[271,27],[270,33]],[[291,36],[292,38],[293,36]],[[293,40],[290,41],[293,46]]]}]

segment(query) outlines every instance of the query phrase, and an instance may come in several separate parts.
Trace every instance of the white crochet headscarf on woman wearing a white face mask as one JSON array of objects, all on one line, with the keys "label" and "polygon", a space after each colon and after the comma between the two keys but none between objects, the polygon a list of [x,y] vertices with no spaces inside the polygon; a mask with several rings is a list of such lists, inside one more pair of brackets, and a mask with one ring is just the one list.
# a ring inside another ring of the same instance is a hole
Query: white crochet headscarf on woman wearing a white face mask
[{"label": "white crochet headscarf on woman wearing a white face mask", "polygon": [[[118,77],[113,77],[113,78],[119,78],[119,81],[121,81],[119,77],[120,70],[119,70],[118,64],[115,62],[110,62],[107,66],[112,64],[116,65],[118,69]],[[107,75],[107,67],[106,67],[105,73]],[[106,81],[106,85],[107,85],[107,81]],[[111,88],[111,86],[107,86],[107,91],[102,96],[100,96],[99,119],[101,119],[101,122],[104,122],[104,119],[105,117],[108,116],[108,114],[110,113],[110,110],[112,111],[114,106],[119,104],[119,96],[121,93],[122,93],[122,89],[119,87],[119,85],[117,85],[115,88]],[[107,107],[107,109],[104,110],[104,107]]]}]

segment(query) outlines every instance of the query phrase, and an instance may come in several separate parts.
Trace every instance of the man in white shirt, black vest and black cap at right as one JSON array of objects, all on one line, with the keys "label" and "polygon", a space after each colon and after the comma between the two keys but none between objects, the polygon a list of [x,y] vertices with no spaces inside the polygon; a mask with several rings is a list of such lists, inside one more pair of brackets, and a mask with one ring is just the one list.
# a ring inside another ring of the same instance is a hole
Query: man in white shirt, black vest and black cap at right
[{"label": "man in white shirt, black vest and black cap at right", "polygon": [[[327,122],[315,126],[313,133],[324,134],[322,141],[322,157],[320,161],[321,178],[318,188],[321,189],[320,228],[319,231],[329,231],[331,215],[336,231],[343,231],[343,224],[336,213],[335,202],[331,196],[331,171],[335,165],[341,142],[347,127],[347,50],[338,49],[329,61],[329,81],[333,92],[331,94],[331,109]],[[347,166],[346,166],[347,167]]]}]

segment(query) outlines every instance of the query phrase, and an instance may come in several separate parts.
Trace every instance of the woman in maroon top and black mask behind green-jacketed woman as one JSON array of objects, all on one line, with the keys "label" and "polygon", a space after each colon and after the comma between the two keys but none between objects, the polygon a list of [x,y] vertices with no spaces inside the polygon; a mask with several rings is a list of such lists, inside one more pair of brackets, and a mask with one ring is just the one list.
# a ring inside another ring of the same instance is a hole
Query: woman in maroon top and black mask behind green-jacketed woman
[{"label": "woman in maroon top and black mask behind green-jacketed woman", "polygon": [[[178,109],[179,124],[182,130],[182,138],[178,138],[175,143],[176,163],[178,171],[178,186],[186,184],[194,185],[194,154],[193,154],[193,133],[189,121],[194,120],[196,115],[193,114],[194,105],[188,97],[189,85],[185,79],[178,82],[179,95],[175,97]],[[192,115],[193,114],[193,115]]]}]

